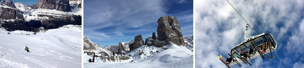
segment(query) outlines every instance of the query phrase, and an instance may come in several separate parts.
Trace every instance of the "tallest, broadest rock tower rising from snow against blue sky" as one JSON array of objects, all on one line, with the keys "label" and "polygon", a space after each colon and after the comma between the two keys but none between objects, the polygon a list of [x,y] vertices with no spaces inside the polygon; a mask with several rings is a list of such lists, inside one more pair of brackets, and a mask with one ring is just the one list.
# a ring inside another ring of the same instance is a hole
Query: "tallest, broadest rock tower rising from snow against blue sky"
[{"label": "tallest, broadest rock tower rising from snow against blue sky", "polygon": [[157,20],[157,39],[167,44],[174,43],[184,46],[185,42],[181,33],[178,20],[173,16],[162,16]]}]

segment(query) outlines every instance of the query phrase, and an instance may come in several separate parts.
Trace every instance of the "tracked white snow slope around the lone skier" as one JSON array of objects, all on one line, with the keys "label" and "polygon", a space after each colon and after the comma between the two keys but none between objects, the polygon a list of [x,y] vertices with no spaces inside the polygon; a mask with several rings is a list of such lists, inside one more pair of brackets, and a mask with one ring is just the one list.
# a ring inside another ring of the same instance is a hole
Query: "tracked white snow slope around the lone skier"
[{"label": "tracked white snow slope around the lone skier", "polygon": [[49,29],[36,35],[19,30],[7,32],[0,31],[0,68],[81,67],[81,28]]}]

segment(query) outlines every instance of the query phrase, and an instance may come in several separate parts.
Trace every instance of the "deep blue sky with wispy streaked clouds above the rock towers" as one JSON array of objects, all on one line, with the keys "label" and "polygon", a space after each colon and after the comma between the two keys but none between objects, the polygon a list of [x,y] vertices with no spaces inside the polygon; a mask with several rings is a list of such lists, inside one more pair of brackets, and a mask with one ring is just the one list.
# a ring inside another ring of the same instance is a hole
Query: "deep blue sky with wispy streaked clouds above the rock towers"
[{"label": "deep blue sky with wispy streaked clouds above the rock towers", "polygon": [[143,39],[157,33],[157,20],[174,16],[183,37],[193,35],[193,1],[189,0],[88,0],[84,1],[84,36],[101,46]]}]

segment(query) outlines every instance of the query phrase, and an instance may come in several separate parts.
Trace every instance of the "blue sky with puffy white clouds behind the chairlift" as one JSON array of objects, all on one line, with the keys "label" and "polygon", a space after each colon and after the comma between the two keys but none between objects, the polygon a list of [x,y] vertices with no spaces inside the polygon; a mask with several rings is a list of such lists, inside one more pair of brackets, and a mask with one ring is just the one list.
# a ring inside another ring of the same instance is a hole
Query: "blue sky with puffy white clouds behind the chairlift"
[{"label": "blue sky with puffy white clouds behind the chairlift", "polygon": [[[304,4],[302,0],[229,0],[258,34],[270,33],[278,43],[276,54],[289,68],[304,67]],[[245,21],[226,0],[195,1],[195,67],[225,68],[217,58],[228,56],[244,41]],[[247,36],[256,35],[249,30]],[[287,68],[274,58],[255,58],[242,68]],[[226,60],[226,58],[225,58]],[[232,68],[239,67],[232,65]]]}]

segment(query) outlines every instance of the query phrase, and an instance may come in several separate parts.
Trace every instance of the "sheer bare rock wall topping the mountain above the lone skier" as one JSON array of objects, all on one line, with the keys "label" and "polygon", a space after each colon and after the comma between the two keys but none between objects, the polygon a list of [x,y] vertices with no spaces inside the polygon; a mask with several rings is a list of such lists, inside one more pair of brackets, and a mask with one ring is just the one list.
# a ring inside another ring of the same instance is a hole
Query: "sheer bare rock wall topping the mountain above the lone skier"
[{"label": "sheer bare rock wall topping the mountain above the lone skier", "polygon": [[55,9],[58,11],[71,12],[69,0],[40,0],[37,3],[38,8]]}]

